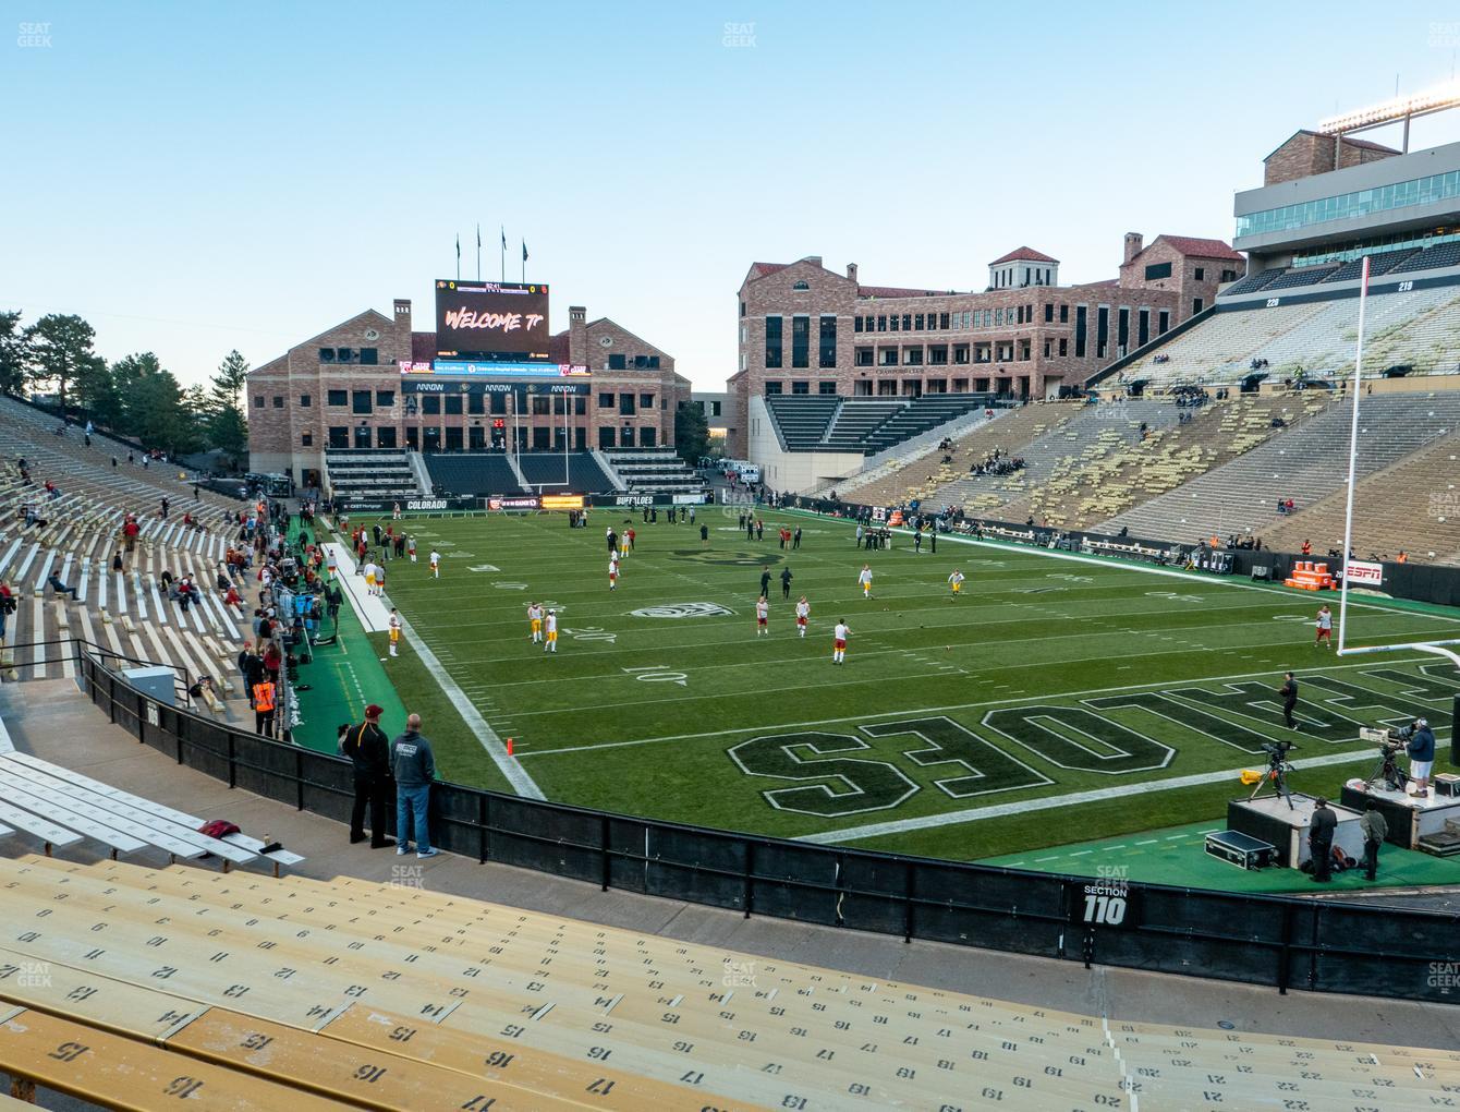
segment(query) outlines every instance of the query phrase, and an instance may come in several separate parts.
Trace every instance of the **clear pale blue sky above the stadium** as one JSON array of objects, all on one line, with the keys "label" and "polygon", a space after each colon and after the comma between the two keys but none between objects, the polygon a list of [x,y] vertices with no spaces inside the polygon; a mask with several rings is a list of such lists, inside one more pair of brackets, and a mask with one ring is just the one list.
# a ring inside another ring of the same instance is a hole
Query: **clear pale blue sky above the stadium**
[{"label": "clear pale blue sky above the stadium", "polygon": [[968,289],[1028,243],[1110,278],[1126,231],[1229,238],[1289,133],[1460,44],[1453,3],[3,6],[0,308],[184,383],[396,297],[429,329],[480,221],[555,330],[584,304],[723,389],[752,260]]}]

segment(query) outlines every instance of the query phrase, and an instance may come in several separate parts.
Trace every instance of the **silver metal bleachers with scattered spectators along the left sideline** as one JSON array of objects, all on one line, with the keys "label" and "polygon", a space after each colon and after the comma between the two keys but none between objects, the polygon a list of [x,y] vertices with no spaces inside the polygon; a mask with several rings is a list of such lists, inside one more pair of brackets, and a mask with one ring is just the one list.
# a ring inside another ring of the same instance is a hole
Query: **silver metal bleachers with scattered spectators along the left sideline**
[{"label": "silver metal bleachers with scattered spectators along the left sideline", "polygon": [[[88,447],[79,428],[55,435],[55,425],[31,406],[0,400],[0,454],[10,462],[0,479],[0,580],[18,602],[6,622],[0,671],[7,678],[73,678],[76,660],[64,641],[76,637],[120,663],[172,668],[184,704],[191,682],[212,677],[216,706],[209,709],[222,717],[245,713],[234,658],[248,640],[247,598],[256,584],[238,583],[245,603],[232,608],[216,589],[242,503],[206,488],[194,497],[191,478],[175,465],[128,463],[124,446],[93,434]],[[15,466],[20,457],[29,484]],[[47,495],[45,481],[57,485],[57,497]],[[162,498],[171,501],[166,519]],[[25,507],[39,517],[35,525],[25,525]],[[112,560],[124,549],[128,513],[140,535],[117,571]],[[193,525],[184,525],[184,514]],[[201,602],[184,609],[168,598],[164,571],[190,576]],[[48,584],[53,573],[76,589],[74,599]]]}]

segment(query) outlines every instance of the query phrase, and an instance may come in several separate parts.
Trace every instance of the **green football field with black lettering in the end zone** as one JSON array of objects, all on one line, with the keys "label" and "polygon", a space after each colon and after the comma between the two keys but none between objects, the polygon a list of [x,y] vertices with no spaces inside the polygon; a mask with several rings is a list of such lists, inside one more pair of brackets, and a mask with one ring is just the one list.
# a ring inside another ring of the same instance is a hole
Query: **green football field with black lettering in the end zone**
[{"label": "green football field with black lettering in the end zone", "polygon": [[[393,563],[388,590],[548,798],[784,837],[1018,853],[1222,818],[1245,793],[1237,770],[1260,767],[1270,738],[1296,738],[1299,766],[1317,760],[1296,791],[1336,795],[1369,772],[1359,725],[1425,713],[1450,736],[1454,669],[1418,653],[1340,663],[1313,647],[1313,595],[948,538],[936,555],[907,538],[863,552],[844,522],[764,517],[755,542],[733,511],[704,510],[702,547],[698,526],[635,514],[615,592],[604,528],[622,529],[622,511],[572,530],[559,514],[420,517],[422,561]],[[783,520],[803,528],[800,551],[778,547]],[[864,561],[872,601],[856,582]],[[771,636],[758,639],[764,565]],[[968,576],[958,601],[955,567]],[[534,599],[558,609],[556,656],[529,643]],[[853,630],[844,666],[831,663],[838,618]],[[1456,612],[1350,608],[1350,643],[1456,636]],[[504,788],[409,641],[387,671],[426,716],[445,774]],[[1288,668],[1302,685],[1296,735],[1276,700]]]}]

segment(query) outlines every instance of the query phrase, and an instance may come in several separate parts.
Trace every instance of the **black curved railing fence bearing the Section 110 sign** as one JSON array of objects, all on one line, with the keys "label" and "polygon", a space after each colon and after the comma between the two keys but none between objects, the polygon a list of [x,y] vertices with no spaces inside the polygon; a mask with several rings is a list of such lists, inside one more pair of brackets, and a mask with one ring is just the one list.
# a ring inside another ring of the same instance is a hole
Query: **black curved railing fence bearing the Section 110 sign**
[{"label": "black curved railing fence bearing the Section 110 sign", "polygon": [[[352,766],[149,700],[83,650],[92,703],[178,764],[345,823]],[[432,842],[479,861],[857,931],[1286,992],[1460,1002],[1460,913],[1092,881],[819,846],[437,783]]]}]

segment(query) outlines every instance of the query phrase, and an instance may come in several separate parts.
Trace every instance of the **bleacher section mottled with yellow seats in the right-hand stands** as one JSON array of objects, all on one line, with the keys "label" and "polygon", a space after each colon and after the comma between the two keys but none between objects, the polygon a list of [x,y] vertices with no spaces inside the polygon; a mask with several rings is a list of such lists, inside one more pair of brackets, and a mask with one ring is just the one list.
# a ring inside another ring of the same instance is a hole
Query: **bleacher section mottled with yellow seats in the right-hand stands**
[{"label": "bleacher section mottled with yellow seats in the right-hand stands", "polygon": [[1028,517],[1060,528],[1088,529],[1183,482],[1253,450],[1288,424],[1310,416],[1329,396],[1321,390],[1294,395],[1238,395],[1187,409],[1187,424],[1152,431],[1145,440],[1108,454],[1056,468],[1028,497],[1007,503],[1004,520]]}]

